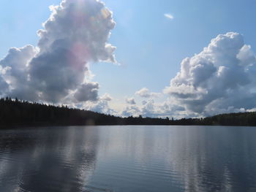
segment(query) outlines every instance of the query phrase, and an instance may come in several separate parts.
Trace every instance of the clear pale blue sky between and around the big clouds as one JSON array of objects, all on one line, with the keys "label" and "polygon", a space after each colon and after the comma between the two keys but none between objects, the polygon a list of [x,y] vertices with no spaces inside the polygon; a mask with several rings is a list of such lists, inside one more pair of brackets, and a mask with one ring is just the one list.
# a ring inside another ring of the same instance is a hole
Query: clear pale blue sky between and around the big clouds
[{"label": "clear pale blue sky between and around the big clouds", "polygon": [[[92,64],[99,95],[116,99],[133,96],[148,88],[162,92],[180,71],[184,58],[200,53],[211,39],[229,31],[238,32],[255,52],[254,0],[105,0],[113,11],[116,27],[109,42],[117,47],[121,65]],[[60,0],[2,0],[0,7],[0,58],[10,47],[37,45],[36,31],[50,15],[49,6]],[[173,20],[164,15],[173,15]]]}]

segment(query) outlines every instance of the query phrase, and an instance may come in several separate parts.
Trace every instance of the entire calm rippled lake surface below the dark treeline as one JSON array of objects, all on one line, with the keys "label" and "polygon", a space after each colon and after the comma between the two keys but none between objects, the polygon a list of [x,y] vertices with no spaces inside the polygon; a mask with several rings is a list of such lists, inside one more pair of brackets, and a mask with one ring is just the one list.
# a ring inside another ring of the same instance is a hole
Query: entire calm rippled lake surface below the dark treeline
[{"label": "entire calm rippled lake surface below the dark treeline", "polygon": [[256,191],[256,128],[2,130],[0,191]]}]

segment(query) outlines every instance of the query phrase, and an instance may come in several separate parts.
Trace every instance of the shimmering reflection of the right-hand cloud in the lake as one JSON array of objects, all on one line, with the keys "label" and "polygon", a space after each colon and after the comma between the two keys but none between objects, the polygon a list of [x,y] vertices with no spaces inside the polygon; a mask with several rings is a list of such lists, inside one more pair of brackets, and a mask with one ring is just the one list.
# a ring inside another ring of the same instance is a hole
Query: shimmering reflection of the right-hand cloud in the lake
[{"label": "shimmering reflection of the right-hand cloud in the lake", "polygon": [[176,129],[170,161],[186,191],[256,191],[255,128]]}]

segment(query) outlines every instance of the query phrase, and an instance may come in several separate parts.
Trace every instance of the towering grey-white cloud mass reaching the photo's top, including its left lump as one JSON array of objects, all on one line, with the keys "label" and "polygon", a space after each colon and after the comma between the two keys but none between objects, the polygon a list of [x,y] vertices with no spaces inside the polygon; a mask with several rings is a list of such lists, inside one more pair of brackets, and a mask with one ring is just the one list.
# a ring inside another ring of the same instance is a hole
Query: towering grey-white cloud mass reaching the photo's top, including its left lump
[{"label": "towering grey-white cloud mass reaching the photo's top, including its left lump", "polygon": [[97,0],[63,0],[50,10],[50,18],[37,32],[37,47],[14,47],[1,59],[1,96],[95,101],[99,85],[88,82],[89,64],[116,62],[116,47],[108,43],[115,26],[112,12]]}]

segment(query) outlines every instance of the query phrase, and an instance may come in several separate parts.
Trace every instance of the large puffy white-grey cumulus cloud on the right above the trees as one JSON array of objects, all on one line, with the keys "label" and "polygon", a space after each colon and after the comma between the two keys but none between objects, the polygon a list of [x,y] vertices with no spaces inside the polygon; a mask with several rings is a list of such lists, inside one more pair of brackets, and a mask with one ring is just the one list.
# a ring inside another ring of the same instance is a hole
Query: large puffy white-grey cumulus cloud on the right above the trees
[{"label": "large puffy white-grey cumulus cloud on the right above the trees", "polygon": [[256,58],[241,34],[220,34],[181,62],[165,93],[188,112],[214,115],[255,107]]}]

